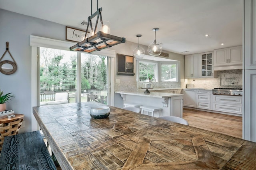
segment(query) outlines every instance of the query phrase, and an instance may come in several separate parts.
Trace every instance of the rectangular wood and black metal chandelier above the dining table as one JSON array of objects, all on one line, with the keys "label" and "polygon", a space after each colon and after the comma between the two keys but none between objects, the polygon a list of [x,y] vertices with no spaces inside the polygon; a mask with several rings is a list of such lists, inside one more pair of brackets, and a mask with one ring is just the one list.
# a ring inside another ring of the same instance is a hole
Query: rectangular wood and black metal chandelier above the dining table
[{"label": "rectangular wood and black metal chandelier above the dining table", "polygon": [[[118,45],[120,43],[125,43],[125,38],[117,37],[110,35],[108,30],[108,26],[104,25],[104,21],[102,21],[101,16],[102,8],[98,8],[98,0],[97,0],[97,11],[92,14],[92,0],[91,0],[91,16],[88,17],[88,24],[85,33],[85,39],[81,42],[76,43],[69,49],[71,51],[83,51],[86,53],[92,53],[94,51],[100,51],[102,49],[112,47],[114,45]],[[96,17],[96,24],[92,26],[92,18]],[[100,19],[101,30],[97,32],[97,25]],[[89,28],[90,26],[90,28]],[[90,32],[90,36],[88,33]],[[88,38],[87,38],[88,37]]]}]

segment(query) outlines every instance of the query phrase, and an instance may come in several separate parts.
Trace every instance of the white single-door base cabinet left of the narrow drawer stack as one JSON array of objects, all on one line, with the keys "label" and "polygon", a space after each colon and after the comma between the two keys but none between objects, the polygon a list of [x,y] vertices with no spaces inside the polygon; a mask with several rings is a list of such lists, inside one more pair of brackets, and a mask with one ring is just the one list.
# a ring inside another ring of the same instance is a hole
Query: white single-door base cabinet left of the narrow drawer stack
[{"label": "white single-door base cabinet left of the narrow drawer stack", "polygon": [[196,108],[196,90],[183,89],[183,106]]}]

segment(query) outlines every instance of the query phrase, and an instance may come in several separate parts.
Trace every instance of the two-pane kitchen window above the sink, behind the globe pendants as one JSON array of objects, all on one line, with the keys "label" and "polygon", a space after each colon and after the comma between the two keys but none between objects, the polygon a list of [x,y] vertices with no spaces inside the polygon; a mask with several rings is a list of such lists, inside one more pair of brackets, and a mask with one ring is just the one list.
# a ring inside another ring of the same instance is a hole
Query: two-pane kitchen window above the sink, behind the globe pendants
[{"label": "two-pane kitchen window above the sink, behind the globe pendants", "polygon": [[137,79],[140,82],[152,78],[158,82],[178,82],[180,81],[179,65],[179,61],[138,60]]}]

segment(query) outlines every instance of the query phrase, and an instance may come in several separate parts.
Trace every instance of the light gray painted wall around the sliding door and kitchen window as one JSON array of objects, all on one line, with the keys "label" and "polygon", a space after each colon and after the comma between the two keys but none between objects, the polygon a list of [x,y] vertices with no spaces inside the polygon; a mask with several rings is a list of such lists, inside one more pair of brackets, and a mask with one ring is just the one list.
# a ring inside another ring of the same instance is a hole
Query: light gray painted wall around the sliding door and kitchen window
[{"label": "light gray painted wall around the sliding door and kitchen window", "polygon": [[[65,26],[61,24],[0,9],[0,56],[6,50],[6,42],[9,42],[9,51],[18,65],[14,74],[4,75],[0,73],[0,89],[4,93],[13,93],[15,95],[15,98],[7,103],[7,109],[12,109],[15,113],[25,115],[25,128],[20,129],[21,133],[31,131],[31,118],[33,116],[31,105],[30,35],[65,41],[65,30]],[[126,42],[111,49],[116,50],[116,53],[132,55],[132,51],[136,46],[136,43]],[[146,46],[143,47],[147,49]],[[184,55],[170,53],[170,59],[180,61],[181,78],[184,78]],[[4,56],[3,60],[12,61],[8,54]],[[116,60],[114,62],[116,63]],[[136,89],[136,76],[117,76],[116,65],[114,68],[114,91],[116,91],[115,89],[118,90],[123,82],[128,82],[126,85],[132,85]],[[120,79],[121,83],[116,84],[116,79]]]}]

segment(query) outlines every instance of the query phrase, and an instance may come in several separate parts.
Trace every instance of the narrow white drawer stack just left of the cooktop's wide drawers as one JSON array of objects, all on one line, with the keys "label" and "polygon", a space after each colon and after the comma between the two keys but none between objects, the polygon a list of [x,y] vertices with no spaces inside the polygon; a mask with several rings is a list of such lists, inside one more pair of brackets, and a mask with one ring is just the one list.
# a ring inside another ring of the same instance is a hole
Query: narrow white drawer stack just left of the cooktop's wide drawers
[{"label": "narrow white drawer stack just left of the cooktop's wide drawers", "polygon": [[197,90],[196,91],[196,107],[198,109],[212,110],[212,91]]}]

